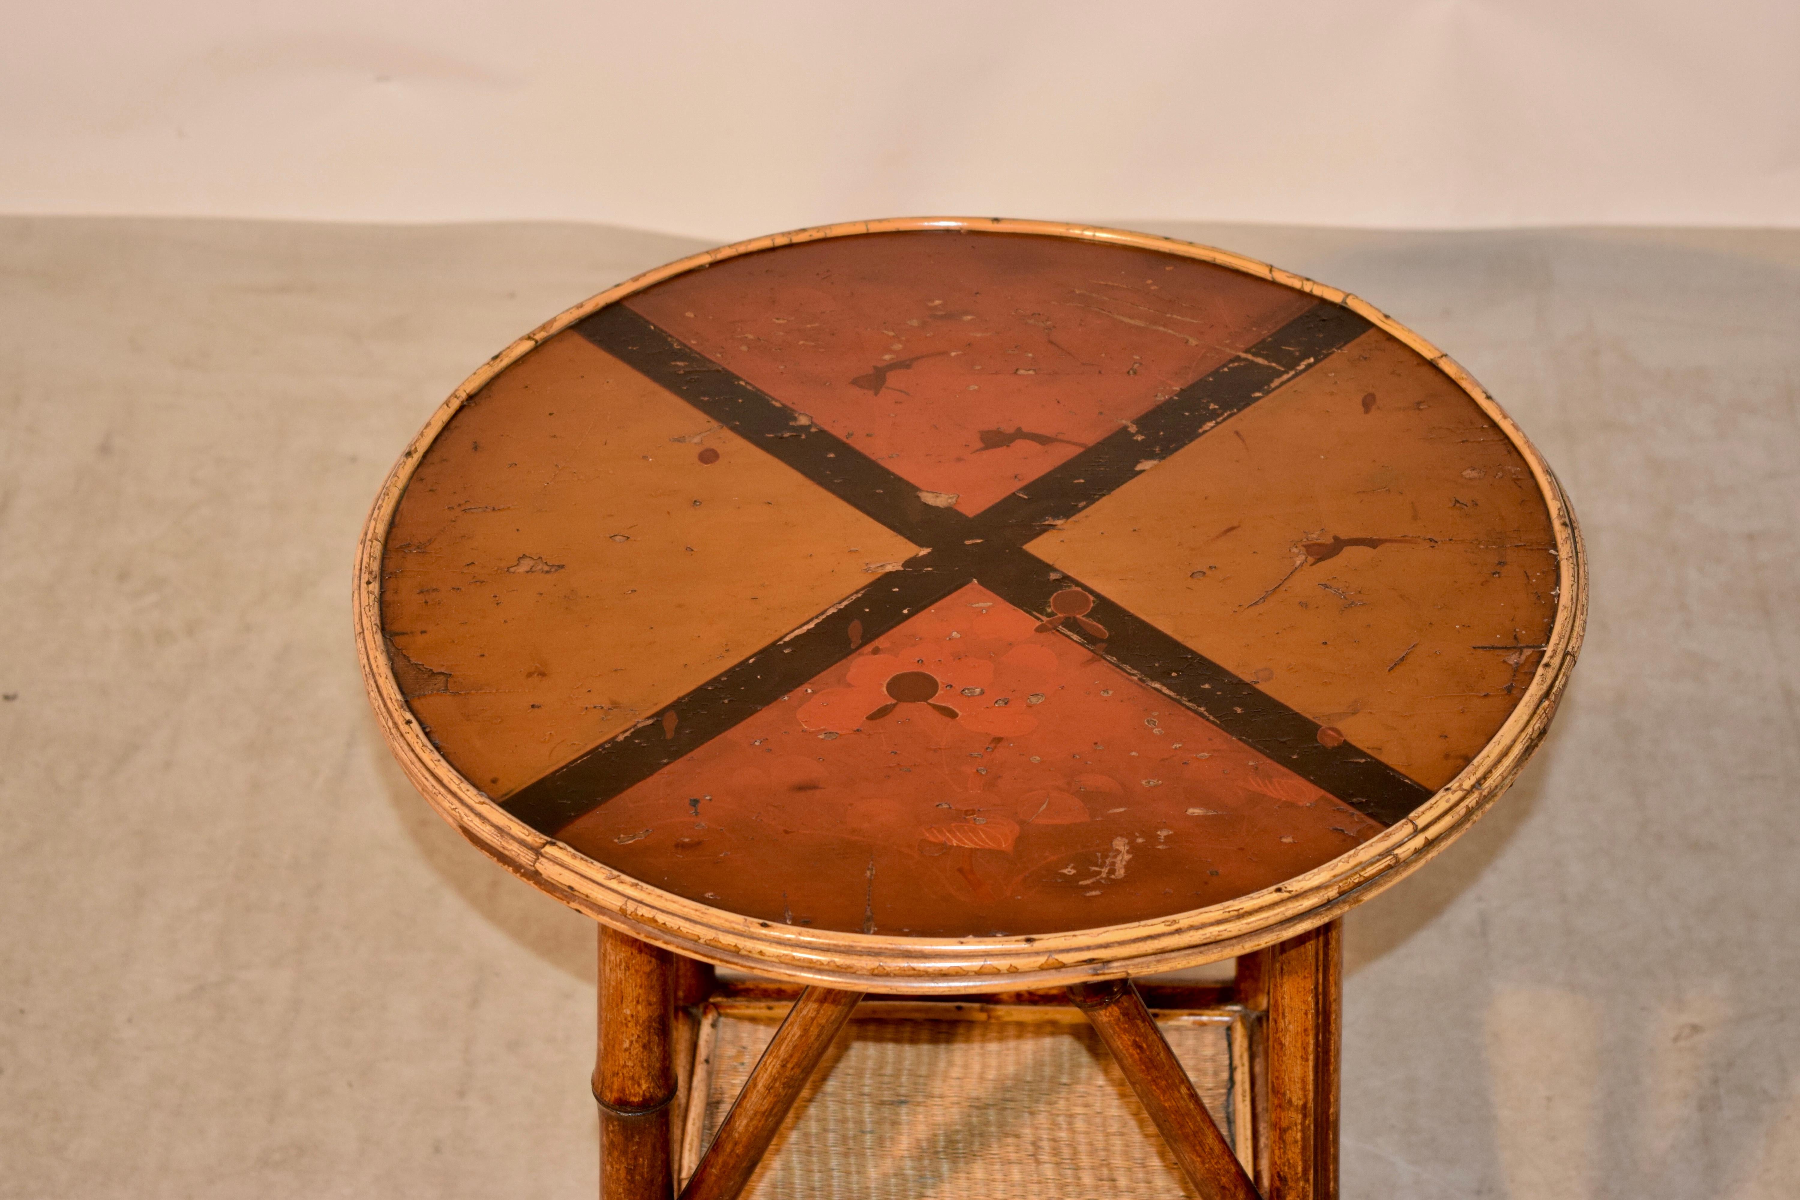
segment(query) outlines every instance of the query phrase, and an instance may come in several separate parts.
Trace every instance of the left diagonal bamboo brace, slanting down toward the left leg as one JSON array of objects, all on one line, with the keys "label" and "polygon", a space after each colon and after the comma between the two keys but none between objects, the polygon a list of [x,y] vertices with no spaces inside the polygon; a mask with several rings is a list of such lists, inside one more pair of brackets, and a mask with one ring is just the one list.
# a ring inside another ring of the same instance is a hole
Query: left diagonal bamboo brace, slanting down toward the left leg
[{"label": "left diagonal bamboo brace, slanting down toward the left leg", "polygon": [[832,1038],[850,1020],[860,991],[806,988],[743,1083],[718,1137],[700,1159],[680,1200],[736,1200],[774,1141]]}]

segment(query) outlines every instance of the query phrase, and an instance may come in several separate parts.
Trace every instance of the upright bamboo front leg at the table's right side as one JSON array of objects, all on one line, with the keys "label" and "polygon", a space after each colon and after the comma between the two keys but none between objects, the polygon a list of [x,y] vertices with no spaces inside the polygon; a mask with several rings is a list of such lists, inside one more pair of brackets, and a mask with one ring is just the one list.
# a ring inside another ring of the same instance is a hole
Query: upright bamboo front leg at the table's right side
[{"label": "upright bamboo front leg at the table's right side", "polygon": [[1269,1200],[1337,1200],[1343,923],[1274,946],[1269,972]]}]

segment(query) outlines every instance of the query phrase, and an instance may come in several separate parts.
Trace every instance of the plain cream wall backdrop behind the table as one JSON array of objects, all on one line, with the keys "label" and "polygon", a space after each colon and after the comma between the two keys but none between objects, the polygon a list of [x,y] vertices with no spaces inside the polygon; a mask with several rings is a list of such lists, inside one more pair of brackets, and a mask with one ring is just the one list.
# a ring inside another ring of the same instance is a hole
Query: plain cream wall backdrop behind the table
[{"label": "plain cream wall backdrop behind the table", "polygon": [[0,212],[1800,223],[1784,0],[63,0]]}]

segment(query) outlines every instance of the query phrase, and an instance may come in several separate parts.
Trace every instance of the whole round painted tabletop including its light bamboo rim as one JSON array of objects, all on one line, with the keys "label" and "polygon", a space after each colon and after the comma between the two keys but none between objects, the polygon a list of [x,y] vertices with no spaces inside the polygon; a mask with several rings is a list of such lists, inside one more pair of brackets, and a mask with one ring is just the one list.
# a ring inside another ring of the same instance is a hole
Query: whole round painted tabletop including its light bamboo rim
[{"label": "whole round painted tabletop including its light bamboo rim", "polygon": [[716,963],[882,990],[1219,959],[1510,783],[1579,538],[1474,381],[1332,288],[1030,221],[787,234],[477,372],[358,631],[477,846]]}]

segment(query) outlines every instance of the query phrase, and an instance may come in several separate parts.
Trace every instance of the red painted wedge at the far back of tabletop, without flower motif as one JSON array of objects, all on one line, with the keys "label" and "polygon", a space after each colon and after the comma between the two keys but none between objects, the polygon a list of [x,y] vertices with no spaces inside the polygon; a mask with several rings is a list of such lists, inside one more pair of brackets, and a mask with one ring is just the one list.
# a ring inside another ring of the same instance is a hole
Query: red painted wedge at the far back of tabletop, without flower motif
[{"label": "red painted wedge at the far back of tabletop, without flower motif", "polygon": [[625,304],[974,515],[1312,300],[1150,250],[909,232],[727,259]]}]

